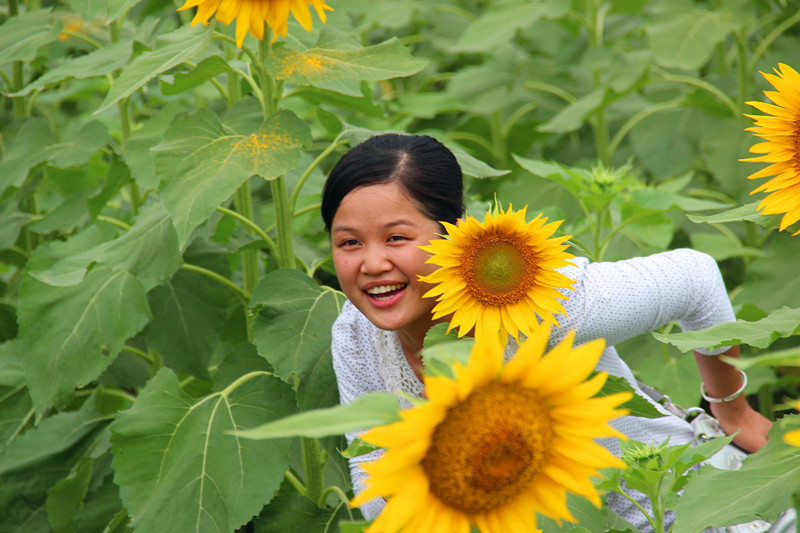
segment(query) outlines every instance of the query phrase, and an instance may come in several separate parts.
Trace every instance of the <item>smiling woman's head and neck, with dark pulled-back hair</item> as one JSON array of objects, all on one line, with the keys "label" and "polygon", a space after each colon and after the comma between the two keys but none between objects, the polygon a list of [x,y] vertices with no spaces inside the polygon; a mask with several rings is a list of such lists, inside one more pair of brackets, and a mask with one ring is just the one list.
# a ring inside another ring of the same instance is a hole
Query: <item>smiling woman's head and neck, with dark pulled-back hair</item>
[{"label": "smiling woman's head and neck, with dark pulled-back hair", "polygon": [[421,275],[420,249],[464,210],[461,169],[453,154],[426,136],[381,135],[350,150],[331,172],[322,216],[333,262],[348,300],[378,328],[395,331],[421,378],[418,354],[433,325],[433,286]]}]

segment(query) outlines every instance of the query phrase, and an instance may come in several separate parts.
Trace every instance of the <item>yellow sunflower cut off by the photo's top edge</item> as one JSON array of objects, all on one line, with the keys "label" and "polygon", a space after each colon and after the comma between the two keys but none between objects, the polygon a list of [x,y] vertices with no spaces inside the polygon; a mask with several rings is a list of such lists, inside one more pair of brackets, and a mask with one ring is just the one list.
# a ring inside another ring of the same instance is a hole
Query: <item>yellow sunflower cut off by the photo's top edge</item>
[{"label": "yellow sunflower cut off by the photo's top edge", "polygon": [[311,31],[313,21],[309,5],[314,7],[323,23],[325,10],[333,11],[324,0],[186,0],[178,11],[197,8],[192,26],[198,22],[208,24],[215,12],[215,18],[223,24],[236,19],[236,45],[241,48],[248,30],[256,39],[264,39],[265,22],[272,30],[273,41],[278,35],[286,37],[290,11],[306,31]]}]

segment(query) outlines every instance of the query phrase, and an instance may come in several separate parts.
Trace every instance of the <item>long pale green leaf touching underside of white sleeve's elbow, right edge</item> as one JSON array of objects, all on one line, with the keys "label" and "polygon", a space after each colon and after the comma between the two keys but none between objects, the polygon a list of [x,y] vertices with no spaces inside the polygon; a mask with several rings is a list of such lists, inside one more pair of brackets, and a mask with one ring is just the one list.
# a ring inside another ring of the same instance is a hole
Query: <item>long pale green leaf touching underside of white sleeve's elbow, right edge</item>
[{"label": "long pale green leaf touching underside of white sleeve's elbow, right edge", "polygon": [[651,335],[661,342],[672,344],[682,352],[688,352],[696,348],[713,350],[736,344],[766,348],[777,339],[798,333],[800,333],[800,309],[782,307],[756,322],[737,320],[698,331],[669,334],[654,331]]}]

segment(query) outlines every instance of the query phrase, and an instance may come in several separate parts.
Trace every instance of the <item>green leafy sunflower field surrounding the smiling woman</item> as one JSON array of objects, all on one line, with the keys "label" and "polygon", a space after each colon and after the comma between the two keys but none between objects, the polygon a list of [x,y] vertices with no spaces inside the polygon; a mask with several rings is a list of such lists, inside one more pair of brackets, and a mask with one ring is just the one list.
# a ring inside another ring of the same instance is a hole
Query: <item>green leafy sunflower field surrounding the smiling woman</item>
[{"label": "green leafy sunflower field surrounding the smiling woman", "polygon": [[[592,483],[676,533],[777,519],[800,505],[798,71],[799,0],[0,0],[0,531],[367,530],[369,446],[343,434],[398,407],[337,407],[319,207],[387,131],[456,154],[469,214],[527,205],[574,255],[710,254],[737,322],[617,348],[689,407],[691,350],[739,344],[769,443],[738,471],[693,468],[726,439],[631,444]],[[431,337],[446,376],[469,345]],[[595,497],[534,523],[635,530]]]}]

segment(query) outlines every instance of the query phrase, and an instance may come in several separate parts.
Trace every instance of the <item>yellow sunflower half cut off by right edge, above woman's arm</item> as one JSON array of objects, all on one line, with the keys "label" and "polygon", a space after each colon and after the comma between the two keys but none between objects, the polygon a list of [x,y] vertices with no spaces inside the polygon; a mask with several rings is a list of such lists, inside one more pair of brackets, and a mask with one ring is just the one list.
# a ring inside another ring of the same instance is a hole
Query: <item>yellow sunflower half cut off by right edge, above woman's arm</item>
[{"label": "yellow sunflower half cut off by right edge, above woman's arm", "polygon": [[[765,215],[785,213],[780,229],[800,220],[800,74],[792,67],[779,64],[775,74],[761,73],[777,91],[764,91],[774,104],[747,102],[767,115],[746,115],[755,120],[755,126],[747,128],[766,142],[750,148],[754,154],[766,154],[741,161],[771,163],[766,168],[748,176],[748,179],[775,176],[750,194],[768,192],[758,204]],[[797,235],[800,231],[795,232]]]}]

